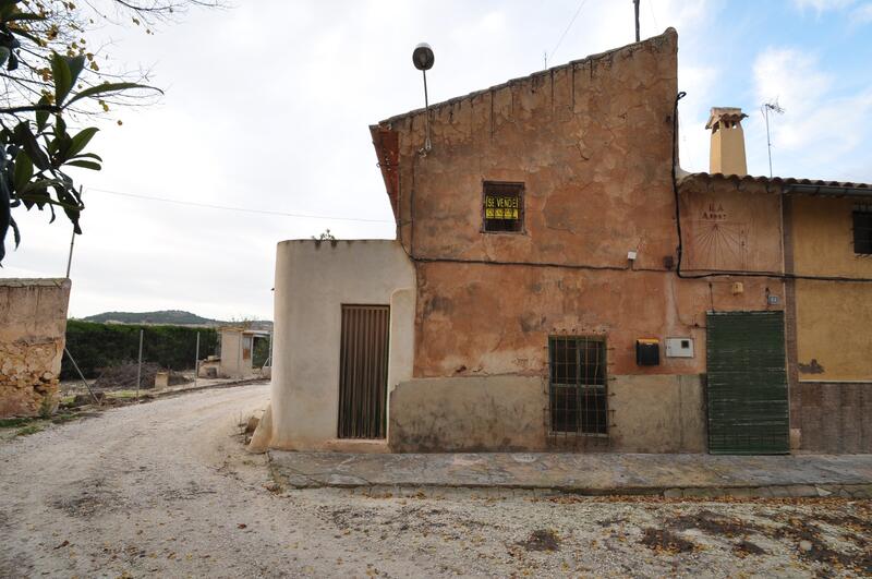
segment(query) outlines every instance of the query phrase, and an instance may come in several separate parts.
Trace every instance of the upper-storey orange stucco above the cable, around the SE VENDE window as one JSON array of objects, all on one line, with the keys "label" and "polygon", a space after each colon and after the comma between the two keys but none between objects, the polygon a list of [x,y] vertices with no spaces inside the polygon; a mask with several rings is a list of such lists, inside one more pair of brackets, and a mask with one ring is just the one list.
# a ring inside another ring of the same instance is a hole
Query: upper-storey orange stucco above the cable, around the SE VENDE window
[{"label": "upper-storey orange stucco above the cable, around the SE VENDE window", "polygon": [[[382,123],[399,135],[402,239],[416,256],[663,266],[677,35]],[[627,159],[632,158],[628,164]],[[482,182],[525,183],[524,233],[482,233]],[[410,220],[411,219],[411,220]],[[412,232],[414,227],[414,232]]]}]

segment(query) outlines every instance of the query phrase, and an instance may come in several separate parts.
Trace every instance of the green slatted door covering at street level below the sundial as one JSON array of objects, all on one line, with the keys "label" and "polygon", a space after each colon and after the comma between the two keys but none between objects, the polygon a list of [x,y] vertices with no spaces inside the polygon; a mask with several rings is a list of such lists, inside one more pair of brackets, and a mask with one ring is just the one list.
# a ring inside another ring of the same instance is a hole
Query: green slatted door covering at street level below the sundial
[{"label": "green slatted door covering at street level below the sundial", "polygon": [[707,316],[708,451],[789,453],[782,312]]}]

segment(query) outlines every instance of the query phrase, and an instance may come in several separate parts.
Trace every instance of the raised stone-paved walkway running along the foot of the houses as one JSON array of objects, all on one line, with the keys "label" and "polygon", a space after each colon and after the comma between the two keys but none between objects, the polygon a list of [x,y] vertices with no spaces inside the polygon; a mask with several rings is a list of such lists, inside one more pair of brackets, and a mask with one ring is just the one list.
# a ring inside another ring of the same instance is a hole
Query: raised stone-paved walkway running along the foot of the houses
[{"label": "raised stone-paved walkway running along the foot of the houses", "polygon": [[665,496],[872,496],[872,455],[269,453],[292,487],[496,488]]}]

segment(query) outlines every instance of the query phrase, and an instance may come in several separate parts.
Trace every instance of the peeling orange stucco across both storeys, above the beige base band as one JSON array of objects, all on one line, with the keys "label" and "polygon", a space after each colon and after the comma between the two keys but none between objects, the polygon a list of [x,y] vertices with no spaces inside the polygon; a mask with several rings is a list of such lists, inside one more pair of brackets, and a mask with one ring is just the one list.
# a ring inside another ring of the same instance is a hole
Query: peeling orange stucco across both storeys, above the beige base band
[{"label": "peeling orange stucco across both storeys, above the beige base band", "polygon": [[[670,29],[436,105],[426,155],[419,154],[422,111],[380,124],[398,136],[401,239],[423,260],[415,377],[544,376],[554,334],[606,335],[611,373],[700,374],[706,310],[765,309],[767,288],[783,295],[780,284],[764,279],[742,279],[740,294],[728,278],[676,279],[664,263],[677,245],[676,93]],[[522,233],[482,231],[483,181],[524,183]],[[778,219],[765,218],[777,196],[727,185],[723,201],[711,188],[685,194],[686,251],[701,267],[780,270]],[[716,215],[706,212],[713,200]],[[701,263],[705,228],[736,225],[744,241],[725,234],[711,263]],[[729,260],[724,248],[735,246],[741,252]],[[694,338],[697,357],[640,367],[635,339],[650,337]]]}]

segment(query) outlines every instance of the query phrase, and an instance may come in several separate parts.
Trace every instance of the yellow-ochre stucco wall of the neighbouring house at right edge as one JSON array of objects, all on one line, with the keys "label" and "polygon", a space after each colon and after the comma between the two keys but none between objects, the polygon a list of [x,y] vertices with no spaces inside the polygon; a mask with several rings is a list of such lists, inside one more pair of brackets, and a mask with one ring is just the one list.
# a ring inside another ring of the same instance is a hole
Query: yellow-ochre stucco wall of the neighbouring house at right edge
[{"label": "yellow-ochre stucco wall of the neighbouring house at right edge", "polygon": [[[872,257],[853,253],[853,202],[794,197],[794,270],[872,278]],[[872,284],[796,281],[799,378],[872,382]]]}]

